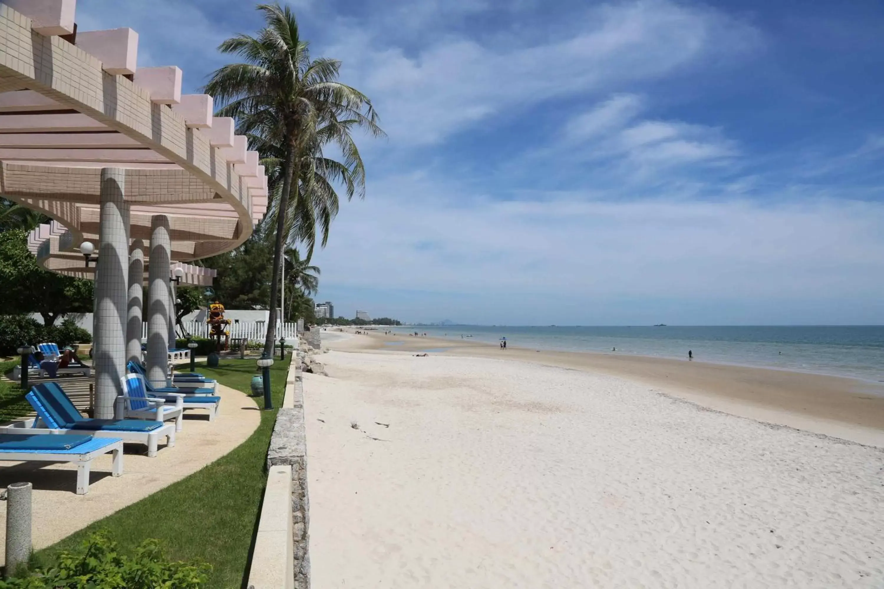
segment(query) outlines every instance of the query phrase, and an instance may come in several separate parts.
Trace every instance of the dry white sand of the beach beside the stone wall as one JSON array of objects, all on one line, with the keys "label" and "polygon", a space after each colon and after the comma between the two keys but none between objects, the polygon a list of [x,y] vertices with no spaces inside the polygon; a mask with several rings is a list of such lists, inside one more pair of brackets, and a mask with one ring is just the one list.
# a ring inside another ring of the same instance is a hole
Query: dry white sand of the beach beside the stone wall
[{"label": "dry white sand of the beach beside the stone wall", "polygon": [[562,368],[322,361],[315,587],[884,586],[880,449]]}]

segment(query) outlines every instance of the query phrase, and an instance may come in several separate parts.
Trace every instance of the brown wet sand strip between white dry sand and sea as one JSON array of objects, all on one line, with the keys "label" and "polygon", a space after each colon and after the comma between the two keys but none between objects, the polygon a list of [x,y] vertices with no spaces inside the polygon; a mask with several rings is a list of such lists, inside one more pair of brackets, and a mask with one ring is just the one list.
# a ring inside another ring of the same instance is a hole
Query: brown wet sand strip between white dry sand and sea
[{"label": "brown wet sand strip between white dry sand and sea", "polygon": [[[354,329],[348,330],[350,333]],[[324,332],[324,336],[327,333]],[[333,334],[334,332],[331,332]],[[616,353],[529,350],[383,331],[324,345],[340,351],[520,360],[640,382],[708,409],[884,448],[884,385],[857,379]],[[392,345],[394,342],[401,344]]]}]

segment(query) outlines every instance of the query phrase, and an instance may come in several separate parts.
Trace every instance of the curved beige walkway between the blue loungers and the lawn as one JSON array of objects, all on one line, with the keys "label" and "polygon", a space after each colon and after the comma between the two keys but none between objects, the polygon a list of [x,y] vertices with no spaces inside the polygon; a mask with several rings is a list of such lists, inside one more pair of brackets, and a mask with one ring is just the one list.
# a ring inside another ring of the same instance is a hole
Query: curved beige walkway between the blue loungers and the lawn
[{"label": "curved beige walkway between the blue loungers and the lawn", "polygon": [[[14,482],[34,484],[34,550],[50,546],[92,522],[109,516],[163,487],[200,470],[245,442],[258,424],[257,405],[239,390],[218,385],[221,411],[209,422],[208,412],[185,412],[184,429],[174,448],[160,444],[156,457],[147,447],[126,444],[123,476],[110,476],[110,454],[95,458],[89,492],[76,495],[77,469],[72,464],[0,463],[0,487]],[[165,439],[163,439],[165,442]],[[6,502],[0,502],[0,546],[5,543]],[[0,564],[4,554],[0,550]]]}]

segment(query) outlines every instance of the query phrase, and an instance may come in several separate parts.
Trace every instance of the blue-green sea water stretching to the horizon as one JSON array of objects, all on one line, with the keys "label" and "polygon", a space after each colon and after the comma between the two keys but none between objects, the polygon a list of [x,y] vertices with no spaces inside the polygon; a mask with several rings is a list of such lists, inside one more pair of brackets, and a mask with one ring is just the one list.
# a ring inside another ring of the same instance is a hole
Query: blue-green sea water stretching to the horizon
[{"label": "blue-green sea water stretching to the horizon", "polygon": [[[394,328],[394,333],[497,343],[538,350],[600,351],[761,366],[884,382],[884,326],[796,327],[488,327]],[[616,348],[617,351],[613,351]]]}]

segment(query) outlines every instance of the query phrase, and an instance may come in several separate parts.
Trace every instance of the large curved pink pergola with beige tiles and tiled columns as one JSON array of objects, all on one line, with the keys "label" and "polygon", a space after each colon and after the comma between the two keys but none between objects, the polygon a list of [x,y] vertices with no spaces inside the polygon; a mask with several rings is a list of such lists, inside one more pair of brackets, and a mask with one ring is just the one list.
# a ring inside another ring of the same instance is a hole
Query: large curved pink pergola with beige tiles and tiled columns
[{"label": "large curved pink pergola with beige tiles and tiled columns", "polygon": [[148,378],[164,385],[173,268],[210,283],[181,263],[248,239],[267,177],[210,95],[181,94],[178,67],[138,66],[131,28],[78,31],[76,0],[2,1],[0,194],[52,219],[29,239],[43,268],[95,276],[95,417],[107,419],[126,361],[141,361],[145,276]]}]

